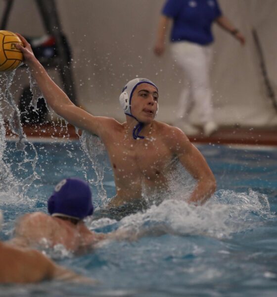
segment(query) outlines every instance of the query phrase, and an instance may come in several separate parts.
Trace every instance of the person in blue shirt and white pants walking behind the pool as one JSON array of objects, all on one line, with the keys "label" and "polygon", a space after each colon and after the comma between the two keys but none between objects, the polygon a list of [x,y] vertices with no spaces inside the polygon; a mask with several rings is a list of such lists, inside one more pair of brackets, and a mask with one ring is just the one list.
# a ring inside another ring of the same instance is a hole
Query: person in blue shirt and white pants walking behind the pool
[{"label": "person in blue shirt and white pants walking behind the pool", "polygon": [[209,68],[212,59],[212,24],[216,22],[242,45],[244,36],[222,14],[217,0],[167,0],[162,10],[154,47],[156,55],[165,50],[165,36],[170,20],[171,50],[188,81],[179,100],[176,126],[185,134],[193,135],[199,130],[189,122],[189,114],[196,106],[203,132],[211,135],[218,128],[213,118],[212,91]]}]

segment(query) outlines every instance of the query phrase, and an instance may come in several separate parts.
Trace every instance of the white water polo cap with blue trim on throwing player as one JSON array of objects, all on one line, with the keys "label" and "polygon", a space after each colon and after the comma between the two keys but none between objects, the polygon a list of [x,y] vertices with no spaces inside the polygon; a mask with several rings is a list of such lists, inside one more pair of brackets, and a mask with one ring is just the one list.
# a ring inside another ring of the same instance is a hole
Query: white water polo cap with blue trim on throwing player
[{"label": "white water polo cap with blue trim on throwing player", "polygon": [[[146,79],[146,78],[135,78],[135,79],[132,79],[130,82],[128,82],[125,85],[125,87],[123,88],[122,93],[119,96],[120,105],[123,108],[124,113],[127,115],[133,116],[132,110],[131,110],[131,106],[132,106],[131,100],[132,100],[132,96],[133,96],[135,89],[140,84],[152,85],[158,91],[157,86],[153,82],[151,82],[149,79]],[[158,113],[158,109],[157,109],[156,115],[157,115],[157,113]]]}]

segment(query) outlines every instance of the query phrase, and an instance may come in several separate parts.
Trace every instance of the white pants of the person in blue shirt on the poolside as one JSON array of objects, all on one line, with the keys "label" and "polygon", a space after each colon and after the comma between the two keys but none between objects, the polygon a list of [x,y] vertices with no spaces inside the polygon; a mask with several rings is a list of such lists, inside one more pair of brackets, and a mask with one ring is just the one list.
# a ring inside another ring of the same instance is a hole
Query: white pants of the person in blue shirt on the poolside
[{"label": "white pants of the person in blue shirt on the poolside", "polygon": [[182,91],[177,118],[187,121],[195,104],[199,122],[213,121],[212,91],[209,68],[212,60],[212,46],[200,46],[190,42],[174,42],[171,46],[174,60],[184,71],[188,86]]}]

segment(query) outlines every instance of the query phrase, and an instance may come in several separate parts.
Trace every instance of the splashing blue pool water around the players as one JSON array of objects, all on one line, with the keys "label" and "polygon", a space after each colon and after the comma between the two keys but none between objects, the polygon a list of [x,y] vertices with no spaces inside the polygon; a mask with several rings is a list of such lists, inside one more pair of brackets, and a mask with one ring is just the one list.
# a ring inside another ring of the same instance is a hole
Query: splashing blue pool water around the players
[{"label": "splashing blue pool water around the players", "polygon": [[[118,222],[88,222],[97,232],[155,227],[167,234],[106,243],[81,256],[62,248],[46,251],[59,264],[99,280],[98,286],[0,286],[0,296],[277,296],[277,148],[198,148],[218,183],[204,206],[187,205],[174,195]],[[97,158],[103,167],[106,155]],[[0,239],[11,237],[18,216],[46,212],[47,197],[65,177],[89,180],[94,204],[101,208],[115,194],[113,176],[107,167],[102,189],[103,172],[96,175],[92,161],[79,142],[34,143],[25,152],[7,143],[0,175],[5,218]],[[180,196],[184,189],[175,185]]]}]

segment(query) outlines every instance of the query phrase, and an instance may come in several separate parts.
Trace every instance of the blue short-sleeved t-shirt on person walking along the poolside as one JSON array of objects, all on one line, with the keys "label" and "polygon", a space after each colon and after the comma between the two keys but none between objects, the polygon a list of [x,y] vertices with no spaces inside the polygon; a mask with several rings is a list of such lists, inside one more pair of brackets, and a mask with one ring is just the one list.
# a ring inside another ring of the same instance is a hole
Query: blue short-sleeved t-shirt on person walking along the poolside
[{"label": "blue short-sleeved t-shirt on person walking along the poolside", "polygon": [[222,15],[217,0],[167,0],[162,14],[173,18],[171,41],[213,42],[212,23]]}]

